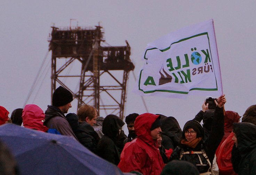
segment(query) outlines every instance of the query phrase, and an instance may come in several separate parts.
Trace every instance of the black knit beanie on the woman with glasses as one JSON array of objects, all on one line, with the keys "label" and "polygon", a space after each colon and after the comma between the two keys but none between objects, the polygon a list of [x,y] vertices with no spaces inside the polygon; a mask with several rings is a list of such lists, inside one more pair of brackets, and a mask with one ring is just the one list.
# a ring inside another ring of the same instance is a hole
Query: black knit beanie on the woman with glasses
[{"label": "black knit beanie on the woman with glasses", "polygon": [[197,132],[197,138],[202,137],[204,135],[202,125],[196,120],[187,121],[184,125],[182,138],[185,138],[185,131],[192,128],[195,132]]}]

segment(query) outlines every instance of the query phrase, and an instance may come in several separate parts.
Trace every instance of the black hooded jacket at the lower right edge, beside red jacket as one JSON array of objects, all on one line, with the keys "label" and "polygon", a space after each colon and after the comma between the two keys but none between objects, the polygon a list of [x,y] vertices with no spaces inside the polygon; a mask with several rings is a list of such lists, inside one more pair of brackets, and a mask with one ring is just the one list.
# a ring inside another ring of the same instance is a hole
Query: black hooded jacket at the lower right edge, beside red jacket
[{"label": "black hooded jacket at the lower right edge, beside red jacket", "polygon": [[239,175],[256,174],[256,126],[251,123],[233,123],[237,147],[232,150],[233,169]]}]

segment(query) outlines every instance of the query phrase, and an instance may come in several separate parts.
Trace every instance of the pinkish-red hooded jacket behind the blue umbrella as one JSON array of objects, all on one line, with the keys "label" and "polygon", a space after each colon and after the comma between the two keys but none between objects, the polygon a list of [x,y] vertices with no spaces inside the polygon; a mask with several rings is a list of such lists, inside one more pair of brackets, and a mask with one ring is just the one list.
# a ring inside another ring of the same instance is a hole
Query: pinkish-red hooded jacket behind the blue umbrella
[{"label": "pinkish-red hooded jacket behind the blue umbrella", "polygon": [[46,132],[48,128],[43,126],[45,114],[37,105],[26,105],[22,111],[23,126],[25,128],[35,129]]}]

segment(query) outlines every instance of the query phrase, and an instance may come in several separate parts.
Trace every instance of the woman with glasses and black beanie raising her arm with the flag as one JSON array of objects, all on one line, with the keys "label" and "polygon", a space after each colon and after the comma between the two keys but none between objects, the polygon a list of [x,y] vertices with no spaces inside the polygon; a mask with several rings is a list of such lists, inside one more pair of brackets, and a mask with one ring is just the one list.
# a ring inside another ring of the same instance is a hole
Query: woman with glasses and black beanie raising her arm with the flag
[{"label": "woman with glasses and black beanie raising her arm with the flag", "polygon": [[225,95],[218,98],[214,111],[212,128],[207,138],[204,138],[202,125],[196,120],[186,122],[179,146],[175,148],[170,160],[185,160],[197,167],[200,175],[212,174],[211,165],[215,151],[224,135]]}]

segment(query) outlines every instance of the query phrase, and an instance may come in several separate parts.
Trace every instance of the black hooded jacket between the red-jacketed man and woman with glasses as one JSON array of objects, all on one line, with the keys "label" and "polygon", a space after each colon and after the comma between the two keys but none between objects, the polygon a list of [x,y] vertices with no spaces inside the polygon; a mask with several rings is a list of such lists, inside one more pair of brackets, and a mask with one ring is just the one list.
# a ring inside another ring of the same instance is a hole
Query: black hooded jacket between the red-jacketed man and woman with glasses
[{"label": "black hooded jacket between the red-jacketed man and woman with glasses", "polygon": [[165,149],[175,149],[181,140],[182,130],[174,117],[161,119],[162,145]]}]

